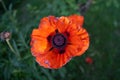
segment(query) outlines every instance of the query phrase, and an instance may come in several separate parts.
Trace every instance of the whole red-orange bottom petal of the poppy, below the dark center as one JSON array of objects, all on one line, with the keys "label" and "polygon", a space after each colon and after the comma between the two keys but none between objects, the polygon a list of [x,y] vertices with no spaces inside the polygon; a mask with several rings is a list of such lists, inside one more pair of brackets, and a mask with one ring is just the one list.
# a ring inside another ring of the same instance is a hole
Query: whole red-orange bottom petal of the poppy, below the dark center
[{"label": "whole red-orange bottom petal of the poppy, below the dark center", "polygon": [[56,50],[46,52],[44,55],[36,57],[36,61],[45,68],[58,69],[65,65],[71,57],[67,56],[66,53],[60,54]]}]

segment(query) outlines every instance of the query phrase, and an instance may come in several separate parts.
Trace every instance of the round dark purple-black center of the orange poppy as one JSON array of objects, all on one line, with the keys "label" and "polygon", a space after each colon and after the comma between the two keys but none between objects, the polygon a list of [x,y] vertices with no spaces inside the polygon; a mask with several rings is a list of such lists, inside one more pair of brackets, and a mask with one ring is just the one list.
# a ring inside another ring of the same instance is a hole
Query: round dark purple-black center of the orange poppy
[{"label": "round dark purple-black center of the orange poppy", "polygon": [[57,33],[52,37],[52,46],[55,48],[64,48],[66,43],[66,37],[61,33]]}]

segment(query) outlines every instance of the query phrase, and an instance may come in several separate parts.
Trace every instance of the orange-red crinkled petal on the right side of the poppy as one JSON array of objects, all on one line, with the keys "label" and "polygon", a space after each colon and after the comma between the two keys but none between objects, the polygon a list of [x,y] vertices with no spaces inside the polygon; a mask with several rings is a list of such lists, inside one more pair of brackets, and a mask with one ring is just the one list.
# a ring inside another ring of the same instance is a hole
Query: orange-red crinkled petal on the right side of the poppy
[{"label": "orange-red crinkled petal on the right side of the poppy", "polygon": [[81,28],[79,31],[71,31],[71,33],[73,35],[70,35],[70,45],[66,47],[66,51],[72,56],[80,56],[89,47],[89,35],[84,28]]}]

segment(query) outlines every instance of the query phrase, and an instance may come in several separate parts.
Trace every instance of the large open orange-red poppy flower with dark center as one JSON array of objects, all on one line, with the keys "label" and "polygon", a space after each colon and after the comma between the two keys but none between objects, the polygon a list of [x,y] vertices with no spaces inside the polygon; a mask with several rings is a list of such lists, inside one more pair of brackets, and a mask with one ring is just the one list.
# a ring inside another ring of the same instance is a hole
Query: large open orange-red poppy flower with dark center
[{"label": "large open orange-red poppy flower with dark center", "polygon": [[41,19],[31,34],[31,52],[45,68],[57,69],[89,46],[89,35],[82,27],[83,16],[48,16]]}]

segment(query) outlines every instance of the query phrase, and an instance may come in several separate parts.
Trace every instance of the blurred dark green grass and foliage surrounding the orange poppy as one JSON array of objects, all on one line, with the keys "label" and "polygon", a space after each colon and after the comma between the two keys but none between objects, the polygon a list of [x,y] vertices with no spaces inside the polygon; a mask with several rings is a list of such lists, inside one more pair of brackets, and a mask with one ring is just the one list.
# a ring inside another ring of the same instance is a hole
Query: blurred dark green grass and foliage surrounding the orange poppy
[{"label": "blurred dark green grass and foliage surrounding the orange poppy", "polygon": [[[120,80],[120,0],[92,0],[86,8],[87,2],[0,0],[0,80]],[[83,13],[90,35],[85,54],[61,69],[39,66],[29,43],[40,19]],[[11,33],[10,40],[3,38],[4,32]]]}]

